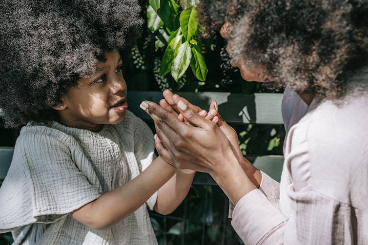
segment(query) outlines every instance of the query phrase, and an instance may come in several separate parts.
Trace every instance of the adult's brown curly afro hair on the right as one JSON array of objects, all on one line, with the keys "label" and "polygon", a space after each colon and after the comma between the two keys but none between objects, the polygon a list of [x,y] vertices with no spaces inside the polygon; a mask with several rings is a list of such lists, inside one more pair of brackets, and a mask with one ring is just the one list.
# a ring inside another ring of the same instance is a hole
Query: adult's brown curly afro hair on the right
[{"label": "adult's brown curly afro hair on the right", "polygon": [[368,0],[202,0],[204,36],[230,23],[228,50],[277,84],[338,98],[368,64]]}]

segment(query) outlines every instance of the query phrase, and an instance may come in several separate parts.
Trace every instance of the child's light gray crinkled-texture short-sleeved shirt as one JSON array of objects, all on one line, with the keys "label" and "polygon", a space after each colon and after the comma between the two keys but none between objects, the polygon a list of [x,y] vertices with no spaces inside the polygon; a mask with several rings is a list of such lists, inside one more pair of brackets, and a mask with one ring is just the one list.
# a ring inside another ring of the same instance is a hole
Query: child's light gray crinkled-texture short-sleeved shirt
[{"label": "child's light gray crinkled-texture short-sleeved shirt", "polygon": [[156,245],[147,205],[154,207],[157,192],[108,230],[67,215],[135,178],[154,158],[151,130],[129,111],[100,132],[29,123],[0,188],[0,232],[11,230],[14,244]]}]

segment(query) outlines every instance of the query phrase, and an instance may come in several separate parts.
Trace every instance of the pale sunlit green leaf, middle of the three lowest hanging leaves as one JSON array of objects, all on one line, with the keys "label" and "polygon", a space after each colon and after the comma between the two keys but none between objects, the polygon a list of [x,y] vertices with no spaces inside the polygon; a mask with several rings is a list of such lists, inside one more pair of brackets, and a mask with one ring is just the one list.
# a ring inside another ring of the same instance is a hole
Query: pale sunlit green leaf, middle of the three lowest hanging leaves
[{"label": "pale sunlit green leaf, middle of the three lowest hanging leaves", "polygon": [[175,51],[174,60],[171,65],[171,75],[175,81],[178,81],[186,69],[188,69],[191,57],[192,52],[189,42],[182,43],[177,51]]}]

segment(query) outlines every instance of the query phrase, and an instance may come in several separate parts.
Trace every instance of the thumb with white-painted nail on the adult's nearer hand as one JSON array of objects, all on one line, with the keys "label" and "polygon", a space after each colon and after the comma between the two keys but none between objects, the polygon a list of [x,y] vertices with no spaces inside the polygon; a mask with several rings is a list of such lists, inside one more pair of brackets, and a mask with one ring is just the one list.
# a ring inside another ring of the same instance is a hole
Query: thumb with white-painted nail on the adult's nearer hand
[{"label": "thumb with white-painted nail on the adult's nearer hand", "polygon": [[209,130],[212,124],[214,124],[210,120],[207,120],[200,114],[196,113],[192,108],[190,108],[187,104],[185,104],[179,98],[178,100],[175,100],[175,99],[176,98],[173,97],[173,100],[178,106],[180,113],[182,113],[184,118],[188,120],[189,123],[193,124],[196,127],[200,127],[204,130]]}]

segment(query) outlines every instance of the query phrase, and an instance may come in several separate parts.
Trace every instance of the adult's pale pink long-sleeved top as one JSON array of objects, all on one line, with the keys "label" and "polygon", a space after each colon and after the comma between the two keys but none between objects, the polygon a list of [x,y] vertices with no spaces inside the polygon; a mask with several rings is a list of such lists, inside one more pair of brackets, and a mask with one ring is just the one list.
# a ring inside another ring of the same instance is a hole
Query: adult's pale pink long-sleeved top
[{"label": "adult's pale pink long-sleeved top", "polygon": [[[367,84],[367,75],[360,81]],[[281,183],[262,173],[260,188],[237,203],[231,224],[245,244],[368,244],[368,93],[309,108],[300,100],[283,104]],[[285,108],[307,111],[287,117]]]}]

